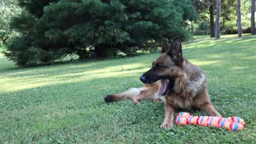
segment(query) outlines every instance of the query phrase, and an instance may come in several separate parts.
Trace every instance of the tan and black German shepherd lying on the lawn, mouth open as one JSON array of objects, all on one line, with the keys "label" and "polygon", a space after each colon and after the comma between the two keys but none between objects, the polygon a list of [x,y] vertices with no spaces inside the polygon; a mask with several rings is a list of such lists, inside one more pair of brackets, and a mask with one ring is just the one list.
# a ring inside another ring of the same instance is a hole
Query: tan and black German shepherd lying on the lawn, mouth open
[{"label": "tan and black German shepherd lying on the lawn, mouth open", "polygon": [[144,83],[143,87],[107,95],[104,100],[131,99],[134,104],[143,99],[161,101],[165,103],[165,119],[161,124],[164,129],[172,127],[176,110],[201,109],[210,116],[220,117],[207,92],[206,74],[182,56],[179,37],[174,38],[171,45],[168,39],[164,39],[160,56],[140,80]]}]

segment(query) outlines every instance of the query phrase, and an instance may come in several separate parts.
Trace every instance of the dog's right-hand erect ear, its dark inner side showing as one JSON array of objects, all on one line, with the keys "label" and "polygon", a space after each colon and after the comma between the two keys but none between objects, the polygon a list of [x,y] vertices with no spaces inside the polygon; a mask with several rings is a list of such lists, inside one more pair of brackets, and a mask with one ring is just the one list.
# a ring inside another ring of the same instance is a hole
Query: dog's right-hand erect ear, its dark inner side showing
[{"label": "dog's right-hand erect ear, its dark inner side showing", "polygon": [[172,61],[175,62],[177,65],[182,64],[182,44],[181,39],[179,37],[175,37],[172,40],[170,50],[168,50],[167,54],[171,57]]}]

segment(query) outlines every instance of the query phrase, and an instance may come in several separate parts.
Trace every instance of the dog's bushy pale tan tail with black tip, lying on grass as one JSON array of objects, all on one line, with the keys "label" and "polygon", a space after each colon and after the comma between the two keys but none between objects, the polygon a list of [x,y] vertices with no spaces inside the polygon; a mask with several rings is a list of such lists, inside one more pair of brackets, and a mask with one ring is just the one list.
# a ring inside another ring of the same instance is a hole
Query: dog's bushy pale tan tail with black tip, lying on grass
[{"label": "dog's bushy pale tan tail with black tip, lying on grass", "polygon": [[135,97],[136,95],[139,95],[142,91],[142,88],[131,88],[128,91],[118,93],[118,94],[111,94],[111,95],[106,95],[104,100],[107,103],[118,101],[118,100],[125,100],[125,99],[131,99]]}]

